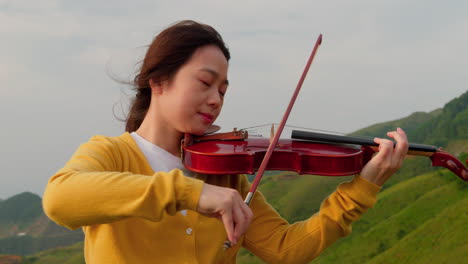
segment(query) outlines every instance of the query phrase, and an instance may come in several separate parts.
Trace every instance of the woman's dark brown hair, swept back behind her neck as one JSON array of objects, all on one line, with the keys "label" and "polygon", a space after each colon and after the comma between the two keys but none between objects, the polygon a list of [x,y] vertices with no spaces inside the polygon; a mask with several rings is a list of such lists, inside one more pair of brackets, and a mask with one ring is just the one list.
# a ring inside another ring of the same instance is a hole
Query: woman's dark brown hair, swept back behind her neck
[{"label": "woman's dark brown hair, swept back behind her neck", "polygon": [[134,79],[136,96],[130,104],[125,131],[137,130],[145,118],[151,102],[149,81],[171,80],[195,50],[205,45],[216,45],[226,60],[231,58],[221,35],[211,26],[195,21],[180,21],[156,36],[146,52],[140,73]]}]

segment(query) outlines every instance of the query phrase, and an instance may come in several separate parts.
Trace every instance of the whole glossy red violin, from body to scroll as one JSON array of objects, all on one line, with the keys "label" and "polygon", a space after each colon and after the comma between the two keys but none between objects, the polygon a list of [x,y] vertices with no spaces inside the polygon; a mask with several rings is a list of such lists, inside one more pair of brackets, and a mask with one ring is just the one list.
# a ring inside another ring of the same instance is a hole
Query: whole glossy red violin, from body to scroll
[{"label": "whole glossy red violin, from body to scroll", "polygon": [[[266,170],[299,174],[346,176],[357,174],[372,158],[377,144],[371,139],[293,130],[293,139],[280,139]],[[204,174],[254,174],[258,171],[270,140],[248,138],[243,130],[190,137],[184,140],[183,162]],[[346,145],[343,145],[346,144]],[[409,144],[408,155],[426,156],[433,166],[451,170],[464,181],[468,171],[462,162],[440,148]]]}]

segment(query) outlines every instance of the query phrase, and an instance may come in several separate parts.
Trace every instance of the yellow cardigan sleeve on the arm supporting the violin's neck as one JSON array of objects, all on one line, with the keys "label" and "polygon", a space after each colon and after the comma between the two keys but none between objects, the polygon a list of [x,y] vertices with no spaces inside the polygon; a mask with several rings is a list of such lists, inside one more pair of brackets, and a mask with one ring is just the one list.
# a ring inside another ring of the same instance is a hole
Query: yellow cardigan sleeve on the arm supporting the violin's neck
[{"label": "yellow cardigan sleeve on the arm supporting the violin's neck", "polygon": [[317,214],[294,224],[281,218],[257,192],[251,203],[254,219],[243,245],[268,263],[307,263],[351,232],[351,223],[374,205],[379,190],[356,176],[340,184]]}]

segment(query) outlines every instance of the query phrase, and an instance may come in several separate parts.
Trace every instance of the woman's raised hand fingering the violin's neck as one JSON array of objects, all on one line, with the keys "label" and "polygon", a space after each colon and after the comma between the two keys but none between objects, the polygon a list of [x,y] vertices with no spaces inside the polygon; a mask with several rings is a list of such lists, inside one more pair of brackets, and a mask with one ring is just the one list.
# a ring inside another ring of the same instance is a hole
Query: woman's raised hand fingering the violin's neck
[{"label": "woman's raised hand fingering the violin's neck", "polygon": [[362,178],[380,186],[400,169],[408,152],[408,138],[401,128],[388,132],[387,136],[395,139],[396,146],[388,139],[375,138],[379,151],[361,171]]}]

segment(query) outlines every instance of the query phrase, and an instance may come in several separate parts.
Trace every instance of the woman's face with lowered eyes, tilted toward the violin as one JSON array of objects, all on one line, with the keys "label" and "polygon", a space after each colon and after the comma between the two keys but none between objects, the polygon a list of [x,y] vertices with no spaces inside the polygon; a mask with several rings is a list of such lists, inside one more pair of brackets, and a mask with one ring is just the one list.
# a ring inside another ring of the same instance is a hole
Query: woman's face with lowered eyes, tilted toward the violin
[{"label": "woman's face with lowered eyes, tilted toward the violin", "polygon": [[204,134],[218,117],[228,87],[228,62],[214,45],[198,48],[156,95],[163,125],[180,133]]}]

